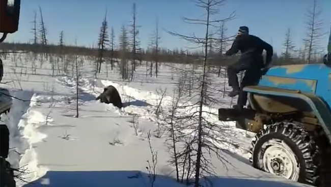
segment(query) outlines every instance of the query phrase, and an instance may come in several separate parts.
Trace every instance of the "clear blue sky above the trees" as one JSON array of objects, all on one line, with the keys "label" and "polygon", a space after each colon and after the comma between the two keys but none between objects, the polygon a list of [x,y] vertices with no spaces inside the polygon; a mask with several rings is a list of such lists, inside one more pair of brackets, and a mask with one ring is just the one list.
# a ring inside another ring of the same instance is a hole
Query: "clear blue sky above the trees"
[{"label": "clear blue sky above the trees", "polygon": [[[31,33],[34,13],[38,6],[42,8],[44,21],[48,30],[48,40],[58,43],[61,30],[64,31],[66,43],[73,44],[75,38],[78,45],[92,46],[96,44],[98,32],[105,10],[108,12],[109,27],[115,33],[120,32],[123,24],[128,25],[131,19],[132,4],[136,3],[137,24],[141,25],[140,40],[145,47],[155,27],[156,16],[161,29],[161,45],[167,48],[181,48],[187,42],[167,34],[162,28],[189,35],[196,33],[203,36],[201,26],[188,25],[181,20],[182,16],[199,18],[205,12],[190,0],[21,0],[20,25],[17,33],[8,37],[7,41],[27,42],[33,38]],[[323,13],[323,32],[328,33],[331,22],[331,1],[318,0]],[[237,18],[227,24],[228,34],[236,34],[241,25],[249,26],[252,35],[274,46],[281,52],[284,35],[288,27],[297,46],[305,36],[305,12],[312,5],[312,0],[228,0],[220,8],[219,18],[225,18],[236,11]],[[327,37],[323,46],[327,45]]]}]

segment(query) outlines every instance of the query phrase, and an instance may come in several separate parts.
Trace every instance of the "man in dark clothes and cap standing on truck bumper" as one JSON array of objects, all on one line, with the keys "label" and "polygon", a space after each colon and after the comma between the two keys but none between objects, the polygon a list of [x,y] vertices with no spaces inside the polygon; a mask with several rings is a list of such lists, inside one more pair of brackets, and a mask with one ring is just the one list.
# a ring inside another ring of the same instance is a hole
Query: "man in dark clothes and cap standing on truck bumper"
[{"label": "man in dark clothes and cap standing on truck bumper", "polygon": [[[264,64],[263,50],[266,50],[266,60]],[[232,87],[232,91],[229,93],[230,97],[239,95],[237,105],[234,108],[242,109],[246,105],[247,93],[242,92],[242,88],[249,85],[255,85],[258,83],[262,69],[269,66],[272,60],[273,48],[270,44],[261,40],[259,37],[249,34],[249,28],[247,26],[240,26],[238,34],[234,40],[231,48],[225,53],[227,56],[231,56],[240,51],[241,56],[236,63],[228,66],[228,79],[229,86]],[[239,86],[237,73],[240,71],[246,71]]]}]

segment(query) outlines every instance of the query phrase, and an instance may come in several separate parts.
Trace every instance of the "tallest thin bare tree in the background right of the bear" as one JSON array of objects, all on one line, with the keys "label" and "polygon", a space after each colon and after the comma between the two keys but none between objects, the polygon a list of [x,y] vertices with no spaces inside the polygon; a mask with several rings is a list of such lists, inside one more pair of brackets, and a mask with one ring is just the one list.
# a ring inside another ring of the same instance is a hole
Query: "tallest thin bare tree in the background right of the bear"
[{"label": "tallest thin bare tree in the background right of the bear", "polygon": [[132,54],[132,64],[131,64],[131,75],[130,79],[131,81],[133,80],[133,74],[135,72],[136,68],[136,61],[137,61],[137,52],[140,51],[140,42],[138,40],[138,35],[139,35],[139,27],[136,23],[136,16],[137,16],[137,11],[136,11],[136,6],[135,3],[133,3],[132,6],[132,21],[130,24],[130,34],[131,34],[131,54]]}]

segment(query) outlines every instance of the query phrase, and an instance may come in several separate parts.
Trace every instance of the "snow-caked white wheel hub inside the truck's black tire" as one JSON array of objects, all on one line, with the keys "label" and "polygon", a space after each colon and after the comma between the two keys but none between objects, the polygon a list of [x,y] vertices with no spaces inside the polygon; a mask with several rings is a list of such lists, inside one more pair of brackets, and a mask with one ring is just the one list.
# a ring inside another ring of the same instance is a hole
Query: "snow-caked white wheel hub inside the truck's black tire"
[{"label": "snow-caked white wheel hub inside the truck's black tire", "polygon": [[295,154],[284,142],[267,142],[263,154],[263,168],[266,172],[297,180],[299,164]]}]

